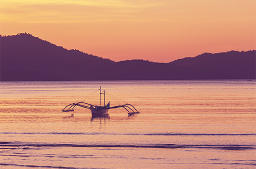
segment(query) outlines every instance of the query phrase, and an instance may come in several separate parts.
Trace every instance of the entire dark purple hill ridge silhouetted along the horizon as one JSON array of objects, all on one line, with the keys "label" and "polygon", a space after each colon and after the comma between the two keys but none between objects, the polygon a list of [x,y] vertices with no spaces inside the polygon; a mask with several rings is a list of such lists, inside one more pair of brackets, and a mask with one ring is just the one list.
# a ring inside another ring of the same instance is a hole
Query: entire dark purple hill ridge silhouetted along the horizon
[{"label": "entire dark purple hill ridge silhouetted along the horizon", "polygon": [[1,81],[255,79],[255,50],[203,53],[170,63],[114,62],[27,33],[0,38]]}]

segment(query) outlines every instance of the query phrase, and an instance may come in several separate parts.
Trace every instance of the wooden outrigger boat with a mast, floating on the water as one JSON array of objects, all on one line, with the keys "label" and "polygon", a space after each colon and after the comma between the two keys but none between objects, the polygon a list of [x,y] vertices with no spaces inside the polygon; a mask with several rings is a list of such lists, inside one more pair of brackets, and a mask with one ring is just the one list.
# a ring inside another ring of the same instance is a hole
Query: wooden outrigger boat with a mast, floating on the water
[{"label": "wooden outrigger boat with a mast, floating on the water", "polygon": [[[87,108],[91,110],[91,115],[92,116],[100,116],[100,115],[107,115],[109,112],[109,109],[113,109],[113,108],[120,108],[123,107],[124,109],[126,109],[128,111],[128,115],[134,115],[134,114],[139,114],[139,111],[136,110],[136,108],[131,105],[131,104],[123,104],[123,105],[117,105],[117,106],[110,106],[110,101],[109,103],[106,105],[105,104],[105,90],[103,91],[103,93],[101,93],[101,86],[99,87],[99,106],[97,105],[92,105],[83,101],[79,101],[77,103],[71,103],[69,105],[67,105],[62,111],[67,112],[67,111],[74,111],[75,106],[80,106],[83,108]],[[101,106],[101,95],[104,95],[104,106]]]}]

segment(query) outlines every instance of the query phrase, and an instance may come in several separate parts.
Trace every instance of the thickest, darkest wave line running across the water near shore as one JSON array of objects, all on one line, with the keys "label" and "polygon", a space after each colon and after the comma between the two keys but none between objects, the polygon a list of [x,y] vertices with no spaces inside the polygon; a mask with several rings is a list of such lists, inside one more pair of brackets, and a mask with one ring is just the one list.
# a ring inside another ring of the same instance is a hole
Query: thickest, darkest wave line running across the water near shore
[{"label": "thickest, darkest wave line running across the water near shore", "polygon": [[48,144],[48,143],[0,143],[0,147],[23,147],[33,149],[33,147],[102,147],[102,148],[199,148],[199,149],[223,149],[223,150],[248,150],[256,149],[256,145],[185,145],[185,144]]}]

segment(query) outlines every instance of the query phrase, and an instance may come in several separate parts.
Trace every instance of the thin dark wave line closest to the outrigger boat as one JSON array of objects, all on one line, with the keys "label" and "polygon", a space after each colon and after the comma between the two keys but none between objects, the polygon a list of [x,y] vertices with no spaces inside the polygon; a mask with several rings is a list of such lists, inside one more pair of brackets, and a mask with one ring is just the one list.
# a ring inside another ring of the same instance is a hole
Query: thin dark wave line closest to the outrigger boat
[{"label": "thin dark wave line closest to the outrigger boat", "polygon": [[230,134],[230,133],[72,133],[72,132],[24,132],[24,133],[13,133],[13,132],[0,132],[0,134],[42,134],[42,135],[158,135],[158,136],[256,136],[256,133],[241,133],[241,134]]}]

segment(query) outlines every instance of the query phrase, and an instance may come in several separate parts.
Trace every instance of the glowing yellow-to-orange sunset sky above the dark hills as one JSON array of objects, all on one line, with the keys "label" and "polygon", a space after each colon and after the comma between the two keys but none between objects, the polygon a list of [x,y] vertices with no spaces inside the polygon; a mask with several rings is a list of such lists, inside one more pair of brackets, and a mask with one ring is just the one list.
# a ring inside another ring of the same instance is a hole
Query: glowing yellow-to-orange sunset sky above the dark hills
[{"label": "glowing yellow-to-orange sunset sky above the dark hills", "polygon": [[168,63],[256,47],[255,0],[1,0],[0,34],[113,61]]}]

